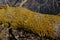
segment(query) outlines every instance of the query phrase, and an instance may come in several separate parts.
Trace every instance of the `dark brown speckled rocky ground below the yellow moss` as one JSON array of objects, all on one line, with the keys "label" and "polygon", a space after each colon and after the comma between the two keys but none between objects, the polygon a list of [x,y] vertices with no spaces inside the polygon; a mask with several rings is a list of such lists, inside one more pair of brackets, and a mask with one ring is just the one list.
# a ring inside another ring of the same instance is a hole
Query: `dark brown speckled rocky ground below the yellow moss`
[{"label": "dark brown speckled rocky ground below the yellow moss", "polygon": [[52,40],[48,37],[40,37],[32,31],[22,28],[0,27],[0,40]]}]

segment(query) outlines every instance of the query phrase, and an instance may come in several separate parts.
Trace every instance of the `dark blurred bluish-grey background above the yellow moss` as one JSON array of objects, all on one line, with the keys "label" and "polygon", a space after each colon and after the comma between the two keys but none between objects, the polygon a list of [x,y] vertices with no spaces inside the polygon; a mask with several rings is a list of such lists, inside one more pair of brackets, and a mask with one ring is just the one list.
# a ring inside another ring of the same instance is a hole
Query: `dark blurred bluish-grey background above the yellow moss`
[{"label": "dark blurred bluish-grey background above the yellow moss", "polygon": [[[0,3],[8,3],[10,6],[19,6],[22,0],[0,0]],[[60,0],[28,0],[23,7],[42,14],[59,14]]]}]

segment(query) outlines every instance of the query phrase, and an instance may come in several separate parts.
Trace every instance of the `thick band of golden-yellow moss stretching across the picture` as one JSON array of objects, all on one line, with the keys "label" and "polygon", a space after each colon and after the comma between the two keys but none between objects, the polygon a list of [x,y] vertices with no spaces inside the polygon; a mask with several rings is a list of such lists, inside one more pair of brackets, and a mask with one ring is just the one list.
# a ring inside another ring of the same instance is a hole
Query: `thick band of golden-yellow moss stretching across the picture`
[{"label": "thick band of golden-yellow moss stretching across the picture", "polygon": [[30,29],[40,36],[53,37],[53,25],[57,21],[60,21],[60,16],[39,14],[21,7],[0,9],[0,22],[10,23],[11,27],[23,25],[25,29]]}]

